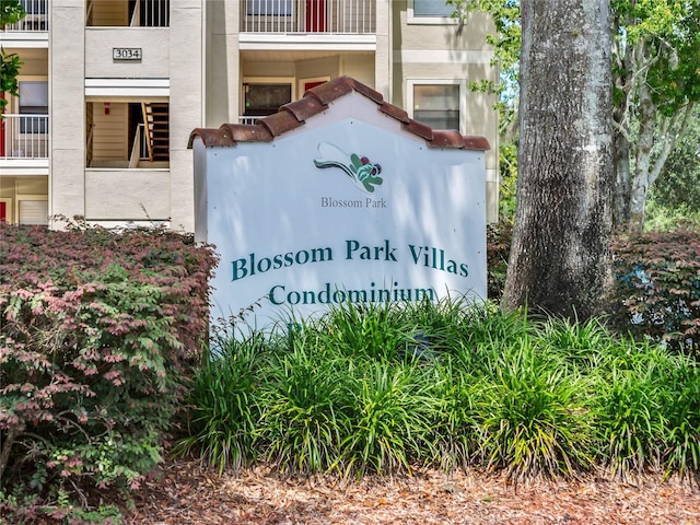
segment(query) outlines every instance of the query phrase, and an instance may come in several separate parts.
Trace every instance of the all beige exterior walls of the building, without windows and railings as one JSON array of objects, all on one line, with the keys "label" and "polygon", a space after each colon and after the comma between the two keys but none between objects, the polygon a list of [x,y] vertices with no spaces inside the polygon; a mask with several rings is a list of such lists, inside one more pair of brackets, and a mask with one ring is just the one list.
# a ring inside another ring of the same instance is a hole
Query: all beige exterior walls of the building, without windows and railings
[{"label": "all beige exterior walls of the building, without windows and railings", "polygon": [[[18,188],[25,184],[18,180],[33,179],[42,182],[37,188],[49,200],[49,213],[81,215],[106,225],[170,219],[173,228],[191,231],[189,133],[198,127],[238,121],[244,80],[289,79],[298,98],[305,80],[349,75],[410,112],[411,81],[454,80],[466,85],[469,80],[498,77],[489,63],[492,49],[485,43],[492,31],[487,16],[471,14],[463,27],[415,23],[408,18],[409,2],[376,0],[375,32],[365,39],[351,35],[304,44],[302,38],[292,46],[279,35],[279,42],[255,47],[249,34],[242,38],[240,0],[171,0],[168,27],[129,27],[127,0],[93,1],[86,26],[88,0],[51,0],[48,43],[22,50],[20,77],[49,80],[49,160],[44,161],[43,172],[27,163],[23,176],[0,175],[0,198],[13,199],[15,211]],[[115,47],[141,48],[142,57],[114,60]],[[487,177],[489,220],[493,220],[498,213],[493,100],[467,90],[464,98],[462,131],[486,136],[492,147]],[[128,103],[141,102],[170,104],[170,162],[151,170],[126,170],[132,145]],[[16,109],[16,101],[12,104]]]}]

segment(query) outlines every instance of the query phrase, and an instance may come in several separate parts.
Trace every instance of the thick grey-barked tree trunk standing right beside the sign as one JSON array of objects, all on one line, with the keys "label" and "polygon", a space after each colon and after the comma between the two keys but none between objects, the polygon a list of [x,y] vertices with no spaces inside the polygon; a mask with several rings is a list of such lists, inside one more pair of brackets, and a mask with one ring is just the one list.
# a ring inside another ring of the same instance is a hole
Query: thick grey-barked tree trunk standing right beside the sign
[{"label": "thick grey-barked tree trunk standing right beside the sign", "polygon": [[609,0],[523,0],[517,210],[503,298],[602,313],[611,281]]}]

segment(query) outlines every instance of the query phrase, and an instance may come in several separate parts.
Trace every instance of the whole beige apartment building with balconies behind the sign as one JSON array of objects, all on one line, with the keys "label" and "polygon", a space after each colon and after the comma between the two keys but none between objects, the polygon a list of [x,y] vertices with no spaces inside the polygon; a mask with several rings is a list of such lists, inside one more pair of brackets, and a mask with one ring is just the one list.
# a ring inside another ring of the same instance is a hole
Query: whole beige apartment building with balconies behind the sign
[{"label": "whole beige apartment building with balconies behind the sign", "polygon": [[434,129],[483,136],[498,217],[486,14],[443,0],[22,0],[24,62],[0,121],[0,220],[194,231],[195,128],[256,119],[348,75]]}]

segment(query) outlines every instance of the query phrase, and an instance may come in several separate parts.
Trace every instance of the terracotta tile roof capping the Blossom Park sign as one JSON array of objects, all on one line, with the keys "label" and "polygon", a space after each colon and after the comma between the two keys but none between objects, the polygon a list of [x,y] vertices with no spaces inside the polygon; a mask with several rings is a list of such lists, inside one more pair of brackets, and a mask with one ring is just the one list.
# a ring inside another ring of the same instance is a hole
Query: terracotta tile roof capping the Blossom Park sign
[{"label": "terracotta tile roof capping the Blossom Park sign", "polygon": [[431,148],[462,150],[488,150],[489,141],[483,137],[465,137],[455,130],[432,129],[422,122],[409,118],[398,106],[384,101],[381,93],[350,77],[339,77],[312,88],[295,102],[283,105],[280,110],[258,119],[254,125],[224,124],[219,129],[197,128],[189,136],[188,148],[195,137],[201,138],[206,147],[231,147],[238,142],[270,142],[287,131],[296,129],[308,119],[328,109],[328,104],[338,98],[358,92],[377,105],[377,109],[396,119],[401,127],[425,140]]}]

